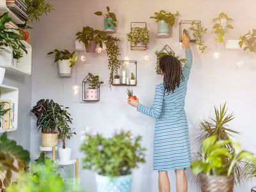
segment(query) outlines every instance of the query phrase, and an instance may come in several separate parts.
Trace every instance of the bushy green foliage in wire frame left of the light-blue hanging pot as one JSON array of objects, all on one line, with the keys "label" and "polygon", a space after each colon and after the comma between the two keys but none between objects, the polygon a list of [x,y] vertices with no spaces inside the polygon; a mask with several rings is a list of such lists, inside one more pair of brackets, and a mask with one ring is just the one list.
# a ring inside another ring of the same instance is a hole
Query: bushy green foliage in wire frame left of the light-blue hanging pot
[{"label": "bushy green foliage in wire frame left of the light-blue hanging pot", "polygon": [[132,28],[130,33],[127,34],[129,42],[136,44],[138,42],[143,42],[148,44],[149,42],[149,31],[147,28]]}]

